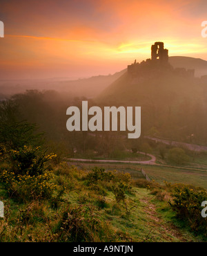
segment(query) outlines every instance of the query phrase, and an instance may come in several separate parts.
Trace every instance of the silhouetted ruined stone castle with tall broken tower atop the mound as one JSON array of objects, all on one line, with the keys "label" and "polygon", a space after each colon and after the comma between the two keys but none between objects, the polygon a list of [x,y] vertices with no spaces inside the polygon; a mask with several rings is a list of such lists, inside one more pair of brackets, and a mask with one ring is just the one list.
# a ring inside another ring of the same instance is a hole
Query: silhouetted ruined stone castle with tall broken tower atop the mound
[{"label": "silhouetted ruined stone castle with tall broken tower atop the mound", "polygon": [[141,77],[156,77],[164,73],[173,73],[182,77],[195,77],[195,69],[173,68],[168,62],[168,49],[164,48],[163,42],[155,42],[151,46],[151,59],[128,65],[130,77],[141,79]]}]

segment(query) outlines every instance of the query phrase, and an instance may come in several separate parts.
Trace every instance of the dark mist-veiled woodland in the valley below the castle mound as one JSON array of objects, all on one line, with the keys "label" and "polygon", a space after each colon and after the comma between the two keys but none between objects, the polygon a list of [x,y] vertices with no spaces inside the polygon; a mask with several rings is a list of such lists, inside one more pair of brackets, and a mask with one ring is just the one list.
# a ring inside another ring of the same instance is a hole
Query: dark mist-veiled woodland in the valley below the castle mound
[{"label": "dark mist-veiled woodland in the valley below the castle mound", "polygon": [[[154,136],[155,134],[160,134],[159,129],[155,127],[149,127],[146,130],[142,127],[141,137],[138,139],[127,139],[124,132],[118,131],[95,131],[93,133],[88,131],[68,131],[66,129],[66,121],[68,119],[66,109],[72,105],[81,108],[82,100],[86,99],[68,98],[56,91],[40,92],[34,90],[14,95],[10,100],[1,101],[0,143],[3,143],[6,147],[18,149],[18,147],[28,144],[41,145],[44,138],[46,141],[44,145],[50,147],[52,152],[58,152],[59,156],[66,154],[71,157],[74,157],[77,153],[87,156],[95,152],[101,156],[112,157],[114,154],[126,151],[126,149],[135,153],[152,152],[155,145],[144,139],[144,135]],[[95,102],[88,100],[88,104],[95,105]],[[195,116],[197,116],[197,121],[195,122],[193,122],[192,116],[190,119],[185,107],[182,108],[182,113],[187,118],[182,120],[184,118],[180,116],[180,120],[183,122],[181,125],[184,125],[184,129],[179,131],[179,136],[183,135],[182,138],[187,137],[189,131],[187,132],[186,129],[190,129],[190,125],[191,127],[193,125],[205,127],[202,122],[206,122],[206,119],[204,116],[200,116],[204,114],[204,111],[199,111],[199,109],[195,108]],[[173,122],[172,127],[175,127]],[[189,122],[189,124],[185,122]],[[200,136],[205,140],[206,133],[201,133]],[[192,141],[192,143],[196,142]],[[159,154],[164,160],[171,158],[170,161],[175,162],[175,158],[179,159],[178,156],[183,156],[183,152],[177,151],[176,149],[174,152],[168,152],[164,145],[159,147]]]}]

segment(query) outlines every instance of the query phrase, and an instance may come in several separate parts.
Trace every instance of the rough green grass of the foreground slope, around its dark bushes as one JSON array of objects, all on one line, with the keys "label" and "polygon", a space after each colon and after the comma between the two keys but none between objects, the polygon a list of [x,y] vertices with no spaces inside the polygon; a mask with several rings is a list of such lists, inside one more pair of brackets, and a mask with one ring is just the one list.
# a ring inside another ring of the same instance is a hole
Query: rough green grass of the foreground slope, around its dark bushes
[{"label": "rough green grass of the foreground slope, around its dark bushes", "polygon": [[[99,182],[98,189],[94,189],[83,179],[85,173],[68,167],[55,167],[54,181],[58,188],[65,188],[57,209],[51,208],[50,200],[19,204],[9,200],[0,190],[6,208],[6,218],[0,221],[0,241],[59,241],[54,230],[68,206],[73,209],[91,208],[90,214],[108,226],[110,231],[106,228],[106,235],[101,239],[95,236],[95,241],[202,241],[186,228],[178,228],[179,221],[167,200],[158,200],[148,188],[141,188],[142,185],[132,181],[133,193],[127,194],[126,204],[116,203],[106,182]],[[142,184],[145,180],[139,181]],[[153,182],[148,184],[155,185]],[[103,191],[106,201],[101,206]],[[167,199],[168,196],[166,193]],[[130,214],[126,212],[126,205],[131,208]]]}]

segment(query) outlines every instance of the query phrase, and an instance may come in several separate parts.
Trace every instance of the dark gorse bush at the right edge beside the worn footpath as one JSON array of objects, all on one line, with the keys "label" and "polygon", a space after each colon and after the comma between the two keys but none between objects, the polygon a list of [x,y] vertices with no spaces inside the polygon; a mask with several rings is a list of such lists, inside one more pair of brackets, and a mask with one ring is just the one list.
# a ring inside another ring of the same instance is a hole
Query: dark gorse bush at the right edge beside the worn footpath
[{"label": "dark gorse bush at the right edge beside the worn footpath", "polygon": [[172,208],[177,212],[177,217],[188,223],[194,232],[207,237],[207,219],[201,217],[203,209],[201,203],[206,201],[207,193],[204,190],[196,191],[184,186],[175,188],[172,196]]}]

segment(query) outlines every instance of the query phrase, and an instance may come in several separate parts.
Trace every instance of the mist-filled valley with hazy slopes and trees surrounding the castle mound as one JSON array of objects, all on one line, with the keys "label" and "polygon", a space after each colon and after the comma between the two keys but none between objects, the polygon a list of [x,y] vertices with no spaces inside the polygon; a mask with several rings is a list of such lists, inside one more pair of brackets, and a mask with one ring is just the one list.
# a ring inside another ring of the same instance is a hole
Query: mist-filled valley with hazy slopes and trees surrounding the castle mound
[{"label": "mist-filled valley with hazy slopes and trees surrounding the castle mound", "polygon": [[[207,82],[205,76],[198,76],[204,75],[205,70],[207,73],[206,61],[171,57],[169,62],[174,65],[172,68],[184,64],[186,68],[194,67],[195,77],[175,74],[170,69],[153,75],[149,71],[132,79],[125,69],[113,75],[79,80],[1,81],[1,105],[8,99],[14,113],[18,113],[17,120],[36,124],[38,131],[45,133],[48,145],[64,156],[121,159],[126,157],[124,152],[150,153],[157,147],[159,157],[166,160],[161,152],[168,152],[170,146],[166,143],[157,146],[150,137],[207,145]],[[70,106],[81,109],[82,100],[88,100],[88,107],[102,109],[141,107],[140,138],[128,140],[127,133],[119,130],[69,132],[66,109]],[[5,107],[2,109],[6,111]]]}]

